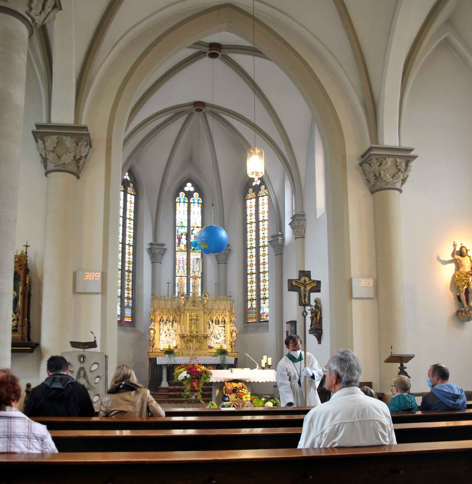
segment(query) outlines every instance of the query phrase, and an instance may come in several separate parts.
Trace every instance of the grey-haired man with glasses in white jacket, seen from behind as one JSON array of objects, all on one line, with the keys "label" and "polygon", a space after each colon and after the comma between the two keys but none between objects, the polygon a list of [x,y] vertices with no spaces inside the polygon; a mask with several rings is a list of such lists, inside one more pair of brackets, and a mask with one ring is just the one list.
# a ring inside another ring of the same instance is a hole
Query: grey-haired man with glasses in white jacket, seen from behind
[{"label": "grey-haired man with glasses in white jacket, seen from behind", "polygon": [[362,366],[350,349],[338,349],[323,368],[331,399],[303,421],[299,449],[396,444],[390,411],[359,388]]}]

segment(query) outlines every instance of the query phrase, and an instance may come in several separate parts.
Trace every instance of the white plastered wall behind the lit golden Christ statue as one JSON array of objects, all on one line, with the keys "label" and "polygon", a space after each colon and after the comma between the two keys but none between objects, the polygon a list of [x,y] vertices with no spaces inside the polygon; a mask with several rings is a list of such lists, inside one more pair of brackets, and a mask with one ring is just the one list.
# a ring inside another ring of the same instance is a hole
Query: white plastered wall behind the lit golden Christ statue
[{"label": "white plastered wall behind the lit golden Christ statue", "polygon": [[402,139],[415,147],[401,195],[407,351],[412,390],[424,392],[433,363],[445,364],[450,381],[470,390],[471,323],[454,312],[452,244],[472,247],[472,74],[446,42],[425,59],[409,92]]}]

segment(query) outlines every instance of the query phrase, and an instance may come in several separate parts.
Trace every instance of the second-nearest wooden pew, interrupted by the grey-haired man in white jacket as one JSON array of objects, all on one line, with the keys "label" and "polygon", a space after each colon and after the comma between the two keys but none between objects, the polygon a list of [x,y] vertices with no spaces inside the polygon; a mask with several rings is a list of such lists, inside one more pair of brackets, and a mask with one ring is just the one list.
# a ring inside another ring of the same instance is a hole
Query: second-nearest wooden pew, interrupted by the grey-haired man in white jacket
[{"label": "second-nearest wooden pew, interrupted by the grey-haired man in white jacket", "polygon": [[[472,422],[396,423],[398,443],[472,439]],[[301,427],[181,430],[52,430],[59,452],[164,452],[182,448],[297,448]]]}]

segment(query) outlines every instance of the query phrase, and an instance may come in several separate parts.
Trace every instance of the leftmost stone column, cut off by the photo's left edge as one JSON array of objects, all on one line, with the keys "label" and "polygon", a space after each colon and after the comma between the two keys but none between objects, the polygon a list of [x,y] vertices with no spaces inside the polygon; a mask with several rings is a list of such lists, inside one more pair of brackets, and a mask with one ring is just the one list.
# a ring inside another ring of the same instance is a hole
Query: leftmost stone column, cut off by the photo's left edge
[{"label": "leftmost stone column, cut off by the photo's left edge", "polygon": [[[33,5],[34,4],[34,5]],[[31,7],[30,7],[31,5]],[[9,368],[16,211],[28,38],[52,22],[60,2],[0,0],[0,368]]]}]

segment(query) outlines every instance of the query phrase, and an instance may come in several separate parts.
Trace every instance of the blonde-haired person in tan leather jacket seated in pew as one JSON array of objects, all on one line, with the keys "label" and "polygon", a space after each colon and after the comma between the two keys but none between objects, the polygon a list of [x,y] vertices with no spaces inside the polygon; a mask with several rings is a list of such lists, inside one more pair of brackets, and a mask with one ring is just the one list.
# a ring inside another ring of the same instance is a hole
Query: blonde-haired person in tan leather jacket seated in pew
[{"label": "blonde-haired person in tan leather jacket seated in pew", "polygon": [[165,417],[160,405],[147,388],[142,388],[131,367],[116,367],[111,388],[102,397],[99,417]]}]

